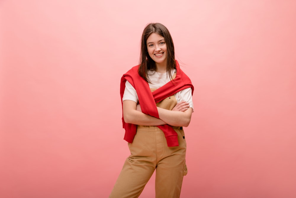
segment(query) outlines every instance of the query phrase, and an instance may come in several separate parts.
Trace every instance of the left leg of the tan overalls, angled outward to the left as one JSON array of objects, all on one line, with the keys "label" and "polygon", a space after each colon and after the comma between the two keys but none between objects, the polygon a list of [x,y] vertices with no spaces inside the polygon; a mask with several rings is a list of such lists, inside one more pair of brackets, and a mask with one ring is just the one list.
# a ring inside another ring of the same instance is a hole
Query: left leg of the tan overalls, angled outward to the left
[{"label": "left leg of the tan overalls, angled outward to the left", "polygon": [[137,131],[110,198],[139,197],[156,167],[155,132]]}]

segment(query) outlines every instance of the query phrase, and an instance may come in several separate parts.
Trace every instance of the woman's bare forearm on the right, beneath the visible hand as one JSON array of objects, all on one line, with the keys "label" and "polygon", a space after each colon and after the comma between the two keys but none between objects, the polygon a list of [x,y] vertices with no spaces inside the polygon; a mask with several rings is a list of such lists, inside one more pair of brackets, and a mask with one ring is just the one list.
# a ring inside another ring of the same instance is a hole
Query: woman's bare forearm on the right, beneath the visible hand
[{"label": "woman's bare forearm on the right, beneath the visible hand", "polygon": [[161,120],[171,126],[188,126],[191,120],[192,108],[186,111],[170,111],[157,107],[158,115]]}]

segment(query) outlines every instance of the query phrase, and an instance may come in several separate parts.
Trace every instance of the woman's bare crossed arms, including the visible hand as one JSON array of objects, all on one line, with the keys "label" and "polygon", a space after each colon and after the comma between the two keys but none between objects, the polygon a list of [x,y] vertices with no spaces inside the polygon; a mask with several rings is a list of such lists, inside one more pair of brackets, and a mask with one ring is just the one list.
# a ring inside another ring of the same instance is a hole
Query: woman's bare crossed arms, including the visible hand
[{"label": "woman's bare crossed arms, including the visible hand", "polygon": [[192,108],[187,102],[179,102],[173,110],[157,107],[159,118],[141,112],[140,105],[132,100],[123,101],[123,119],[126,123],[137,125],[157,126],[169,124],[171,126],[188,126],[191,120]]}]

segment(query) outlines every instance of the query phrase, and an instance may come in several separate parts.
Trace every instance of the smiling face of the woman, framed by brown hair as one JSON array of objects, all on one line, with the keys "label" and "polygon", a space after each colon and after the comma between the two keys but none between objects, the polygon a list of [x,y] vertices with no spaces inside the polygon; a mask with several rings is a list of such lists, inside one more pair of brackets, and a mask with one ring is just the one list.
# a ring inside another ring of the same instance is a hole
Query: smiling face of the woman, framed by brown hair
[{"label": "smiling face of the woman, framed by brown hair", "polygon": [[149,56],[155,61],[156,66],[165,66],[167,62],[167,47],[165,38],[157,33],[152,33],[147,39]]}]

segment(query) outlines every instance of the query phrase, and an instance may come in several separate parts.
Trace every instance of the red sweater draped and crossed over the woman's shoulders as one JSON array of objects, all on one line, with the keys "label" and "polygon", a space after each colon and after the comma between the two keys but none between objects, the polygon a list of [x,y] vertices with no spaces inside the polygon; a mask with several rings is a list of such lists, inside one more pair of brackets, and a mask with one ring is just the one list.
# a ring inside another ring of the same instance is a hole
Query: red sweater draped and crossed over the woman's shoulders
[{"label": "red sweater draped and crossed over the woman's shoulders", "polygon": [[[180,69],[178,61],[176,61],[177,74],[174,81],[170,81],[158,88],[157,90],[151,92],[148,83],[139,75],[138,66],[132,67],[128,72],[126,72],[121,77],[120,82],[120,96],[121,103],[123,98],[123,93],[125,89],[126,80],[131,83],[133,88],[136,89],[139,103],[141,105],[141,110],[147,115],[159,118],[156,103],[162,101],[163,99],[176,94],[178,91],[191,87],[193,94],[193,85],[189,77]],[[122,117],[123,128],[125,129],[124,140],[132,143],[133,138],[136,135],[137,125],[131,123],[125,123]],[[160,128],[167,140],[168,146],[178,146],[178,134],[175,130],[168,124],[157,126]]]}]

